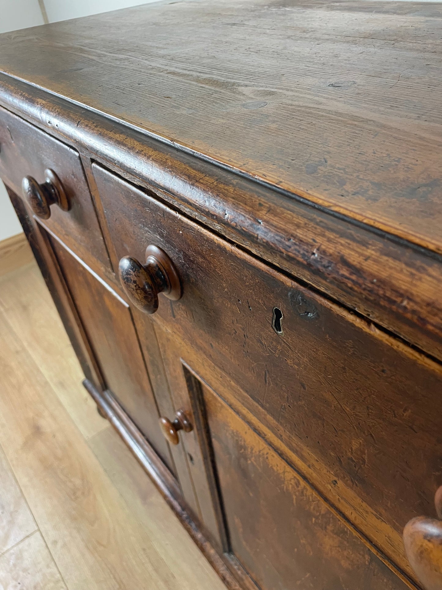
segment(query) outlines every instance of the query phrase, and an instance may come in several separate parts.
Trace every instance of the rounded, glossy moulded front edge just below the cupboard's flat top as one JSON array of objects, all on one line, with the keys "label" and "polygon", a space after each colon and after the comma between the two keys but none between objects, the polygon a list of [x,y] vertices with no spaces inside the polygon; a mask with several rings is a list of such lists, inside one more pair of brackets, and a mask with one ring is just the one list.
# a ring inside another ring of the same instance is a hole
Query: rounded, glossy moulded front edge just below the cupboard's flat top
[{"label": "rounded, glossy moulded front edge just below the cupboard's flat top", "polygon": [[[440,257],[367,225],[351,224],[306,199],[271,191],[19,80],[4,74],[0,80],[0,103],[8,109],[442,359]],[[94,195],[105,228],[95,188]],[[113,245],[108,247],[117,269]]]}]

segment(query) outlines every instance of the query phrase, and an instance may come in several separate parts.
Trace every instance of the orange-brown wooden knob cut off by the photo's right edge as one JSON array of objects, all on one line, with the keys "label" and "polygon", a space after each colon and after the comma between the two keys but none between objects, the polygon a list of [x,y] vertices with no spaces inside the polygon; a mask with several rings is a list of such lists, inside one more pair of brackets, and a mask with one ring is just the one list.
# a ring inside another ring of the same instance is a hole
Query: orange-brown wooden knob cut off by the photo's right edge
[{"label": "orange-brown wooden knob cut off by the photo's right edge", "polygon": [[[442,486],[434,497],[436,512],[442,516]],[[404,528],[408,561],[425,590],[442,588],[442,522],[425,516],[411,519]]]}]

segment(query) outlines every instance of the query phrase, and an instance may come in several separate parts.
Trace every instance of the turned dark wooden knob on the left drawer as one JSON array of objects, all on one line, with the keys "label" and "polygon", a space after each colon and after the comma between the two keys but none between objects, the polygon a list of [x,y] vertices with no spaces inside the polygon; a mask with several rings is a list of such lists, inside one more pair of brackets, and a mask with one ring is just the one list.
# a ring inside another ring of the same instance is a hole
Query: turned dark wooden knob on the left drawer
[{"label": "turned dark wooden knob on the left drawer", "polygon": [[32,176],[25,176],[21,183],[23,196],[32,212],[41,219],[51,217],[51,205],[57,204],[63,211],[69,211],[69,201],[63,185],[52,170],[45,170],[45,182],[38,184]]}]

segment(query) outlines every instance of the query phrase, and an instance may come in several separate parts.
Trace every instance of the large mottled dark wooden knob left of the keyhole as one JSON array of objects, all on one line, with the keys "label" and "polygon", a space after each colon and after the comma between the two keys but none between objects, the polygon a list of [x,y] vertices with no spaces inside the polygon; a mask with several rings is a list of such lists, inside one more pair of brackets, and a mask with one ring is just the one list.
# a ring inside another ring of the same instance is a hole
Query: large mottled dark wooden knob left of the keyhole
[{"label": "large mottled dark wooden knob left of the keyhole", "polygon": [[146,249],[146,264],[131,256],[124,256],[118,264],[123,289],[141,312],[155,313],[158,294],[164,293],[174,301],[182,296],[180,278],[169,256],[150,245]]}]

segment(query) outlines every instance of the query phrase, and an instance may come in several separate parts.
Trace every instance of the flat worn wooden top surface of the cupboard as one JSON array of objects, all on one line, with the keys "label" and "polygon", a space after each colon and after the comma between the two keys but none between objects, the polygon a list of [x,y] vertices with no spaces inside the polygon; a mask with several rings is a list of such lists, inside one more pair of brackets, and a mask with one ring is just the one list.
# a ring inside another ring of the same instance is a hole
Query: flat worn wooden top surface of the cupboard
[{"label": "flat worn wooden top surface of the cupboard", "polygon": [[0,70],[442,253],[442,4],[160,2],[3,34]]}]

